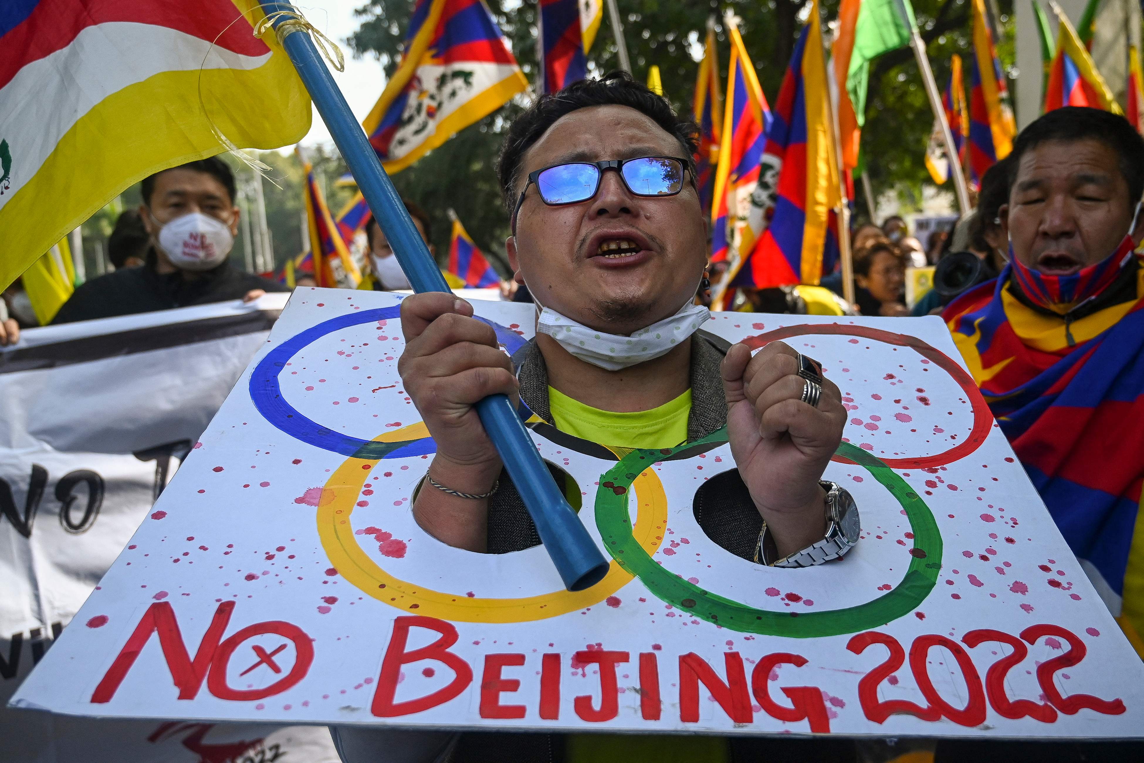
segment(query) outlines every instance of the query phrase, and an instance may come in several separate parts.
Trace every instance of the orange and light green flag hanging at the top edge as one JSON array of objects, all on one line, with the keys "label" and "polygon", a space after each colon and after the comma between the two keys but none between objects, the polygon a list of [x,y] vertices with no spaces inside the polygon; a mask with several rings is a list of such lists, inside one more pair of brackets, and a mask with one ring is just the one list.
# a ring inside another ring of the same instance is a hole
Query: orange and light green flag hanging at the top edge
[{"label": "orange and light green flag hanging at the top edge", "polygon": [[839,135],[842,166],[858,166],[858,143],[866,124],[866,89],[869,62],[890,50],[909,45],[914,9],[909,0],[842,0],[839,5],[839,35],[834,42],[834,80],[839,84]]}]

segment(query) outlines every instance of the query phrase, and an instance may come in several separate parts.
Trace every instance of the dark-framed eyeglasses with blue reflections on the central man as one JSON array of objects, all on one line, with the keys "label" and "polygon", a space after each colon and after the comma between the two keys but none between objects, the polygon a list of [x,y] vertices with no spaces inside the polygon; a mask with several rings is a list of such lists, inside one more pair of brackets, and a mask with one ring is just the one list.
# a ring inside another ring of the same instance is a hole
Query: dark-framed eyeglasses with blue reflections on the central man
[{"label": "dark-framed eyeglasses with blue reflections on the central man", "polygon": [[612,159],[610,161],[574,161],[553,165],[529,173],[529,182],[521,191],[513,210],[513,231],[516,231],[516,215],[524,204],[529,186],[535,184],[540,200],[550,207],[587,201],[599,191],[599,182],[605,169],[615,169],[625,188],[635,196],[675,196],[683,190],[683,178],[688,170],[686,159],[678,157],[641,157],[638,159]]}]

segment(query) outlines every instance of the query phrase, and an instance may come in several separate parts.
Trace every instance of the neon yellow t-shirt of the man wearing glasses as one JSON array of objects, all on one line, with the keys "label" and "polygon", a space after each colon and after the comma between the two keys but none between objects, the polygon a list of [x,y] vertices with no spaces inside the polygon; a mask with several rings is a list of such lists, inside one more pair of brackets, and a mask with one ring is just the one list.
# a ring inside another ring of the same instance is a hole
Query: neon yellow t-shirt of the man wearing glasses
[{"label": "neon yellow t-shirt of the man wearing glasses", "polygon": [[[688,439],[691,390],[651,411],[615,413],[585,405],[549,387],[548,408],[562,432],[610,448],[675,447]],[[722,737],[573,733],[566,752],[569,763],[723,763],[730,757],[728,749]]]}]

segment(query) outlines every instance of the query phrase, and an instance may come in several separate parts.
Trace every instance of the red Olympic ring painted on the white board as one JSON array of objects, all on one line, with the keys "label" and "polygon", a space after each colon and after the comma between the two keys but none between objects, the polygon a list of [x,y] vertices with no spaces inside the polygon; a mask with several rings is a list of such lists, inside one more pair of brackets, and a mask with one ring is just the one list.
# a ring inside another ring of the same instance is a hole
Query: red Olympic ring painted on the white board
[{"label": "red Olympic ring painted on the white board", "polygon": [[[865,339],[872,339],[875,342],[884,342],[887,344],[896,344],[898,347],[908,347],[924,358],[928,358],[931,363],[937,365],[947,374],[950,374],[958,386],[961,387],[962,391],[968,396],[970,408],[974,412],[974,428],[969,432],[969,437],[966,440],[944,453],[937,453],[935,455],[925,455],[919,459],[883,459],[885,466],[891,469],[929,469],[934,467],[942,467],[946,463],[952,463],[953,461],[959,461],[978,447],[988,437],[990,430],[993,428],[993,413],[990,411],[988,404],[985,403],[985,398],[982,397],[980,391],[977,389],[977,383],[974,382],[974,377],[970,376],[966,371],[952,360],[950,356],[942,352],[935,347],[930,347],[916,336],[909,336],[907,334],[895,334],[892,332],[882,331],[881,328],[871,328],[868,326],[852,326],[845,324],[821,324],[821,325],[799,325],[799,326],[785,326],[782,328],[776,328],[774,331],[766,332],[764,334],[757,334],[755,336],[748,336],[742,340],[742,344],[746,344],[752,350],[757,350],[774,340],[791,339],[792,336],[802,336],[804,334],[850,334],[855,336],[863,336]],[[831,459],[837,463],[849,463],[852,464],[853,461],[850,459],[844,459],[842,456],[835,455]]]}]

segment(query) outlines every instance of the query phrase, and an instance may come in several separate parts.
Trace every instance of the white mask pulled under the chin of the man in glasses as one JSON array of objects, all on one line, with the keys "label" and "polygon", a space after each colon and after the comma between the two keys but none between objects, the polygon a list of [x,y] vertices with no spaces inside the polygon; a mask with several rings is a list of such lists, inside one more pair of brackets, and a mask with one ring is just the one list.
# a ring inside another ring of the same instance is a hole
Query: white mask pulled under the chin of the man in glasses
[{"label": "white mask pulled under the chin of the man in glasses", "polygon": [[675,315],[622,336],[589,328],[540,302],[537,307],[541,309],[538,333],[548,334],[574,357],[606,371],[620,371],[667,355],[712,317],[707,308],[688,300]]}]

